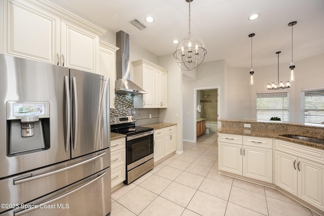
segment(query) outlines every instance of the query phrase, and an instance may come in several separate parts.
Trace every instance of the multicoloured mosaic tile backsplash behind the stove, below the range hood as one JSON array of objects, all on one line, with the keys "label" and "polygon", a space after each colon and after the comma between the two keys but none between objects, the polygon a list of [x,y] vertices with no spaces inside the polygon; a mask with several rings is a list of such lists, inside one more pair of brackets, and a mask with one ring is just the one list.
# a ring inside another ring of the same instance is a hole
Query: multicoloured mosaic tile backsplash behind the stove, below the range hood
[{"label": "multicoloured mosaic tile backsplash behind the stove, below the range hood", "polygon": [[115,93],[115,108],[110,109],[110,117],[134,115],[134,95]]}]

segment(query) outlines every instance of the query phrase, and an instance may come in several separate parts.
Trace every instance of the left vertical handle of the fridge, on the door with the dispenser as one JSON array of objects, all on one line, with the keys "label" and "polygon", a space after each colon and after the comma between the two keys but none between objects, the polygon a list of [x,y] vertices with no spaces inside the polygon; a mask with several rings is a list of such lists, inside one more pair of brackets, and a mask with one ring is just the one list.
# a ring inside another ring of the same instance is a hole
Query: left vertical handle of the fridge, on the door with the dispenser
[{"label": "left vertical handle of the fridge, on the door with the dispenser", "polygon": [[65,91],[65,151],[70,150],[70,135],[71,135],[71,103],[69,91],[69,77],[64,76],[64,91]]}]

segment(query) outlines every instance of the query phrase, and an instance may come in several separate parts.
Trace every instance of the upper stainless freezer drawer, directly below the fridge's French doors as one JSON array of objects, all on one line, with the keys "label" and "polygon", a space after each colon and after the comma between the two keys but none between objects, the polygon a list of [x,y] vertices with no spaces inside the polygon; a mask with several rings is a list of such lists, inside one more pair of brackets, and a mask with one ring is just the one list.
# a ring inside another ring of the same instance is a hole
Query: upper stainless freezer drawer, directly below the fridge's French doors
[{"label": "upper stainless freezer drawer, directly below the fridge's French doors", "polygon": [[[89,177],[109,166],[110,148],[2,179],[0,203],[28,202]],[[0,208],[0,212],[5,210]]]}]

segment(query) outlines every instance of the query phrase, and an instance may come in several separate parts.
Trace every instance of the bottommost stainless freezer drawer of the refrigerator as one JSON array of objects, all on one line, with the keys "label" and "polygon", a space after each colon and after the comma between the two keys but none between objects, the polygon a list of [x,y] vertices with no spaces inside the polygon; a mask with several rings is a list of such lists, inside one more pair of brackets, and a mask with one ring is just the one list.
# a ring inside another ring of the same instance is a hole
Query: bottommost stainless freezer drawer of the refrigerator
[{"label": "bottommost stainless freezer drawer of the refrigerator", "polygon": [[[26,208],[30,206],[31,208]],[[22,209],[24,207],[26,209]],[[110,215],[110,167],[1,216]]]}]

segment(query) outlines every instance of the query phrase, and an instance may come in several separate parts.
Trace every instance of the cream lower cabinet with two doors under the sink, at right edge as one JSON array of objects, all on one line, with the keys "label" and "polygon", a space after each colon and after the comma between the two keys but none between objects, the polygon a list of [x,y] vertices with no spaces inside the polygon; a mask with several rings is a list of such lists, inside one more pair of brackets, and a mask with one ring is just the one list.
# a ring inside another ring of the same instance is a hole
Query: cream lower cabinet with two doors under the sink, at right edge
[{"label": "cream lower cabinet with two doors under the sink, at right edge", "polygon": [[275,185],[324,210],[324,151],[275,142]]}]

